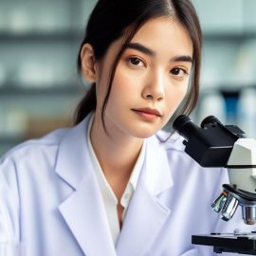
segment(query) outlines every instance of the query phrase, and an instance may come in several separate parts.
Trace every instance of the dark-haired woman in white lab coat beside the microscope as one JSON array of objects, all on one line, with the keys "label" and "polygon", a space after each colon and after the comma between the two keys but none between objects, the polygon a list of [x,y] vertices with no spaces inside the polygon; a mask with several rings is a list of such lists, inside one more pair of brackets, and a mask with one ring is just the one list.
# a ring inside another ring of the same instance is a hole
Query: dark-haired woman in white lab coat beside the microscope
[{"label": "dark-haired woman in white lab coat beside the microscope", "polygon": [[191,113],[200,56],[189,0],[100,0],[78,58],[92,86],[77,125],[1,159],[1,241],[29,256],[212,255],[191,236],[223,231],[210,203],[227,174],[160,131],[178,106]]}]

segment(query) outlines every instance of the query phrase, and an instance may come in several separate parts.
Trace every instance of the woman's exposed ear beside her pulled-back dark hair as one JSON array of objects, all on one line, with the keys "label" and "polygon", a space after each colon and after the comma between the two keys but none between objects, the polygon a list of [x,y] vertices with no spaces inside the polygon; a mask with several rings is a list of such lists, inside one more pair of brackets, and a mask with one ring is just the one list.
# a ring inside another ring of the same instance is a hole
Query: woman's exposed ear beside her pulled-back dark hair
[{"label": "woman's exposed ear beside her pulled-back dark hair", "polygon": [[93,47],[90,44],[83,45],[81,50],[82,74],[88,82],[96,82],[95,64]]}]

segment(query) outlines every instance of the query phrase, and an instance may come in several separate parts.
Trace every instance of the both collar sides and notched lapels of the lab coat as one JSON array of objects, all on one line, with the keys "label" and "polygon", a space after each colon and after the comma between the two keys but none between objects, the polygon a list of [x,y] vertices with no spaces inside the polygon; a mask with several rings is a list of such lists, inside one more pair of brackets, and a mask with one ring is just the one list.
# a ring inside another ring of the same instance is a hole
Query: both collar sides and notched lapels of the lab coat
[{"label": "both collar sides and notched lapels of the lab coat", "polygon": [[[112,256],[117,254],[86,146],[89,119],[87,117],[70,129],[60,144],[56,172],[74,192],[59,210],[85,255]],[[158,195],[172,186],[166,151],[156,137],[146,139],[145,161],[137,190],[124,217],[117,244],[118,255],[141,255],[154,240],[171,212],[158,200]]]}]

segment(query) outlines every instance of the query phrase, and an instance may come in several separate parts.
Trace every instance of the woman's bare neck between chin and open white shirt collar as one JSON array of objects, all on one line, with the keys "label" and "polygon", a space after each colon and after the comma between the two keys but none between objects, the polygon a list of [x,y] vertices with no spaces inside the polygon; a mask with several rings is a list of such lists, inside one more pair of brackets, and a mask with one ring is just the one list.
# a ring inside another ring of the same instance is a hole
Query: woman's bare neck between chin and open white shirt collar
[{"label": "woman's bare neck between chin and open white shirt collar", "polygon": [[143,138],[127,136],[114,127],[103,129],[101,116],[95,115],[91,143],[106,176],[129,177],[142,147]]}]

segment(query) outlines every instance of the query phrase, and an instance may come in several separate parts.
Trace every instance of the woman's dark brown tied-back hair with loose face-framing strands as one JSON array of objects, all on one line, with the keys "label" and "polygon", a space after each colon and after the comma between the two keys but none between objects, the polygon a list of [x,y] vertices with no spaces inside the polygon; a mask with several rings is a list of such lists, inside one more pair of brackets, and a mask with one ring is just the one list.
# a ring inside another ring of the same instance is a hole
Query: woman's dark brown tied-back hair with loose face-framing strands
[{"label": "woman's dark brown tied-back hair with loose face-framing strands", "polygon": [[[112,64],[108,89],[103,101],[101,120],[104,125],[104,112],[109,99],[119,59],[133,39],[139,27],[156,17],[173,17],[185,27],[193,46],[191,86],[186,101],[179,114],[190,114],[195,107],[199,94],[199,76],[201,64],[201,27],[195,9],[190,0],[99,0],[93,9],[85,30],[84,39],[78,54],[78,72],[81,74],[81,50],[86,43],[93,46],[96,60],[101,60],[108,47],[121,36],[123,45]],[[75,113],[75,123],[79,123],[91,111],[96,109],[96,88],[93,83],[79,103]],[[105,129],[106,130],[106,129]]]}]

